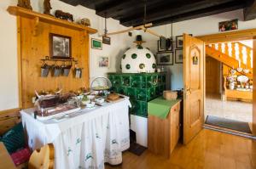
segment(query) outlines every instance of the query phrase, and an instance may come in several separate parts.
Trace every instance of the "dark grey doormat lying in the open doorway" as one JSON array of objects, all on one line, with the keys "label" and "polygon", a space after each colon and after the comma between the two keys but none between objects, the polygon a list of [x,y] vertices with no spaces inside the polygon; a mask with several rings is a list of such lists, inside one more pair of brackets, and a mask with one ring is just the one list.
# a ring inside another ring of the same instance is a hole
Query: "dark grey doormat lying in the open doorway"
[{"label": "dark grey doormat lying in the open doorway", "polygon": [[252,133],[249,124],[243,121],[234,121],[217,116],[207,115],[206,124],[215,127],[224,127],[238,132]]}]

